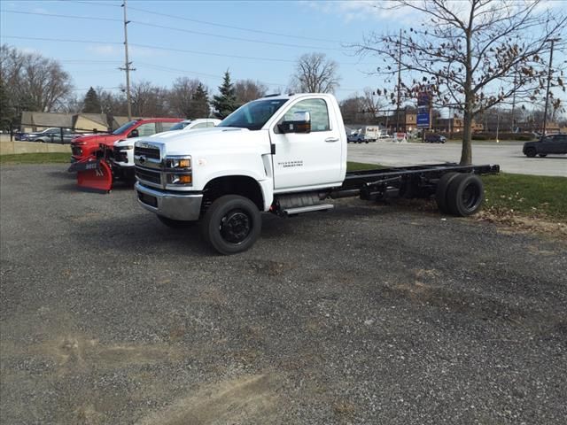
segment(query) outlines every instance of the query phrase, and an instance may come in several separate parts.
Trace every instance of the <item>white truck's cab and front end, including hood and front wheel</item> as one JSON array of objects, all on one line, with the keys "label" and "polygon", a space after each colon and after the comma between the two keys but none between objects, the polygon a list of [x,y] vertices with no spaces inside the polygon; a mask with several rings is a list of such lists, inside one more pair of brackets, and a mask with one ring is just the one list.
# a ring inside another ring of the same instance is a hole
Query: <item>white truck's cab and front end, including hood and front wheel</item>
[{"label": "white truck's cab and front end, including hood and front wheel", "polygon": [[318,208],[342,184],[346,132],[332,95],[263,97],[216,128],[141,138],[134,161],[145,209],[172,226],[203,220],[214,248],[232,253],[254,243],[260,212]]}]

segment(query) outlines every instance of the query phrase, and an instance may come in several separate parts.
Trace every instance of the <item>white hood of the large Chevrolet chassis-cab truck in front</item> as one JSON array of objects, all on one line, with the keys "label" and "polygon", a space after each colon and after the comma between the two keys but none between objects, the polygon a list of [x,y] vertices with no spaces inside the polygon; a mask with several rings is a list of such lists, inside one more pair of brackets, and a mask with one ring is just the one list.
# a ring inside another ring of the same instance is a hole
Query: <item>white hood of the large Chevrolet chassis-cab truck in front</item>
[{"label": "white hood of the large Chevrolet chassis-cab truck in front", "polygon": [[216,127],[191,131],[172,131],[159,136],[140,137],[139,142],[161,144],[167,155],[224,154],[252,148],[269,152],[267,130],[250,131],[247,128]]}]

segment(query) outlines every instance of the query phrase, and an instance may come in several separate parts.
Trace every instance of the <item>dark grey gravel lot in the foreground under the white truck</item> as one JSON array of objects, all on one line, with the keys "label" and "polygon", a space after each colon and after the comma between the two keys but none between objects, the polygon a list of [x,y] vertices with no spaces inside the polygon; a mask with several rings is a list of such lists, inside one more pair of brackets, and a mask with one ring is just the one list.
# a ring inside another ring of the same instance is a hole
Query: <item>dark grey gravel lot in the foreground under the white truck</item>
[{"label": "dark grey gravel lot in the foreground under the white truck", "polygon": [[566,243],[351,199],[221,257],[65,169],[0,170],[3,423],[565,423]]}]

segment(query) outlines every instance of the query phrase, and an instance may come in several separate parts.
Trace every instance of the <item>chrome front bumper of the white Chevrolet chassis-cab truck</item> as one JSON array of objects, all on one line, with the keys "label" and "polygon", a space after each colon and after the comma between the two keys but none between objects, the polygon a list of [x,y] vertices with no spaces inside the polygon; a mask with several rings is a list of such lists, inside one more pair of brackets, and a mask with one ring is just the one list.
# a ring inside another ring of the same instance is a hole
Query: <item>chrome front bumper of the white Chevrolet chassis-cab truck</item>
[{"label": "chrome front bumper of the white Chevrolet chassis-cab truck", "polygon": [[187,194],[151,189],[136,182],[134,186],[138,202],[146,210],[172,220],[194,221],[201,213],[203,194]]}]

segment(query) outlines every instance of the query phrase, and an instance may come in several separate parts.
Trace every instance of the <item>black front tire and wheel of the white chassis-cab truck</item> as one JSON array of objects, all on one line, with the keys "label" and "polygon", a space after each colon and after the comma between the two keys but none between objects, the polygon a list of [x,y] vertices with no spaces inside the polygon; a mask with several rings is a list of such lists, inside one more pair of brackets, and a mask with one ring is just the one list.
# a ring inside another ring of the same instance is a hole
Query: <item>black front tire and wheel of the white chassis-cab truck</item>
[{"label": "black front tire and wheel of the white chassis-cab truck", "polygon": [[260,211],[247,197],[225,195],[206,210],[201,230],[206,242],[221,254],[243,252],[260,236]]}]

